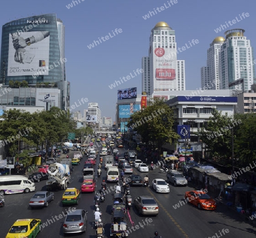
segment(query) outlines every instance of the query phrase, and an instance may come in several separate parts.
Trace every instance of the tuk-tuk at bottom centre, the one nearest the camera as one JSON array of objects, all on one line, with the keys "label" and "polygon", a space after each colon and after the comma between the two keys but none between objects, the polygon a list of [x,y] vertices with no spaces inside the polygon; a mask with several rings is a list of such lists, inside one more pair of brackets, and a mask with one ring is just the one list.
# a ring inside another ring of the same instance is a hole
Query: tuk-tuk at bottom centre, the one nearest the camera
[{"label": "tuk-tuk at bottom centre, the one nearest the camera", "polygon": [[127,237],[129,235],[127,229],[125,214],[120,210],[115,210],[112,215],[110,236]]}]

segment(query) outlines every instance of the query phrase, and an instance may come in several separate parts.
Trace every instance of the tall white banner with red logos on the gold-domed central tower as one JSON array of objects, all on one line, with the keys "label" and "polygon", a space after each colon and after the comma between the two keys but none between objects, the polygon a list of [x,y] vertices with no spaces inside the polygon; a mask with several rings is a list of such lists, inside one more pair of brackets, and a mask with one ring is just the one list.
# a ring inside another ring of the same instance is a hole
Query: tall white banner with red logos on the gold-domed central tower
[{"label": "tall white banner with red logos on the gold-domed central tower", "polygon": [[176,89],[176,49],[154,48],[151,52],[154,91]]}]

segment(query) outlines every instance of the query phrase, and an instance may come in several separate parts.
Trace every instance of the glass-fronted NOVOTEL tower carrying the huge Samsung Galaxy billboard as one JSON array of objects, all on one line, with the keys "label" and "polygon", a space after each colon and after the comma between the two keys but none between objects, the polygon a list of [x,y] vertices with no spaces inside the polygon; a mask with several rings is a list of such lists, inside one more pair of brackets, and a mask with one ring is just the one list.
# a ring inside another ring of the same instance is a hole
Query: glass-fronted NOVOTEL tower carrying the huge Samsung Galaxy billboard
[{"label": "glass-fronted NOVOTEL tower carrying the huge Samsung Galaxy billboard", "polygon": [[66,61],[65,27],[56,14],[30,16],[3,25],[0,62],[3,87],[26,81],[28,87],[59,88],[61,109],[67,110],[70,84],[65,77]]}]

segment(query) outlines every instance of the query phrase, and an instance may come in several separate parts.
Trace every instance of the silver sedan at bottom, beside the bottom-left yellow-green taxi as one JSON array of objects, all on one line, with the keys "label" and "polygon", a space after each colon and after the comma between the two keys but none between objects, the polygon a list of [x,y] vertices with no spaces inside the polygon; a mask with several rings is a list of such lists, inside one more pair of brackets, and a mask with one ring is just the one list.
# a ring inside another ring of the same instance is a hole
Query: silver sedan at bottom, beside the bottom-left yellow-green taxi
[{"label": "silver sedan at bottom, beside the bottom-left yellow-green taxi", "polygon": [[63,223],[63,233],[80,233],[86,231],[88,211],[76,209],[68,211]]}]

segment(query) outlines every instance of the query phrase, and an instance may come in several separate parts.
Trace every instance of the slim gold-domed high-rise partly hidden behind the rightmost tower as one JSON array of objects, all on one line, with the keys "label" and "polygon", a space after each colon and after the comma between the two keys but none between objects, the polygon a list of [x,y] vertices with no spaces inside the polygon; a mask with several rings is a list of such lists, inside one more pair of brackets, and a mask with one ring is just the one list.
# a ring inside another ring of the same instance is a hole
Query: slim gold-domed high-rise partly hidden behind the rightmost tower
[{"label": "slim gold-domed high-rise partly hidden behind the rightmost tower", "polygon": [[201,67],[201,88],[220,89],[219,54],[224,41],[224,37],[216,37],[207,50],[207,67]]}]

